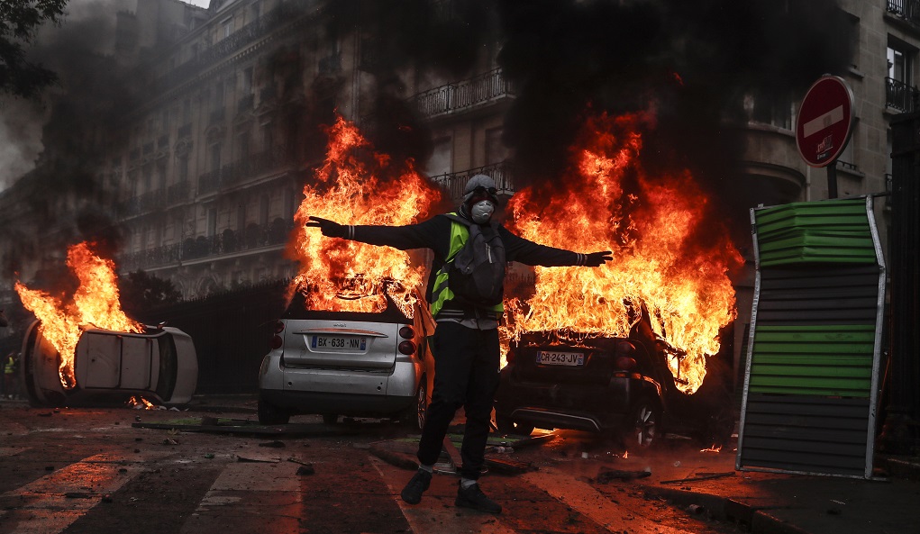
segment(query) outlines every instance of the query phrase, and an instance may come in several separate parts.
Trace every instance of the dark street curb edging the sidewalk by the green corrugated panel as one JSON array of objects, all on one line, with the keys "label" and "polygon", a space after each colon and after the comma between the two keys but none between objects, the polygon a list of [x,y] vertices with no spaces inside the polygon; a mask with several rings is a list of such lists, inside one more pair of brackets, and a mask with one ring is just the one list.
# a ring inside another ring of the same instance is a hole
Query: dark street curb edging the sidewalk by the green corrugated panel
[{"label": "dark street curb edging the sidewalk by the green corrugated panel", "polygon": [[[684,508],[702,506],[707,513],[719,521],[727,521],[748,528],[753,534],[811,534],[771,514],[770,508],[746,505],[721,495],[694,491],[643,486],[646,493],[667,499]],[[692,512],[691,512],[692,513]]]}]

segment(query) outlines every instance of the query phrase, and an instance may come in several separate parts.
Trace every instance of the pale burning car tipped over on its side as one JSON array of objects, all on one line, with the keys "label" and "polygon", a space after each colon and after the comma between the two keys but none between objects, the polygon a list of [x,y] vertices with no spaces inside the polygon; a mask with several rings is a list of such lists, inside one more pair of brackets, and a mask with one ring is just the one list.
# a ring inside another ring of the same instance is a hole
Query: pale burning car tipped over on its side
[{"label": "pale burning car tipped over on its side", "polygon": [[177,328],[144,332],[86,328],[76,343],[72,376],[62,376],[60,352],[35,321],[26,330],[20,379],[33,405],[125,403],[143,396],[162,405],[188,403],[198,381],[191,337]]}]

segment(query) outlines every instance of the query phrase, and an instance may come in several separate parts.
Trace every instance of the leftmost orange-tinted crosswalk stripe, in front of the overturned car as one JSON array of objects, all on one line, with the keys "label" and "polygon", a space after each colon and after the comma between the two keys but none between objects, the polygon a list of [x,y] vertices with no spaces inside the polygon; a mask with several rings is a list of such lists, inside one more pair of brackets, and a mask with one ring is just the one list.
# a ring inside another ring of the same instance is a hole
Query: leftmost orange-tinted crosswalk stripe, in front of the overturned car
[{"label": "leftmost orange-tinted crosswalk stripe, in front of the overturned car", "polygon": [[103,496],[118,491],[144,471],[143,463],[136,459],[132,462],[121,460],[111,454],[97,454],[10,490],[2,497],[17,499],[22,503],[18,509],[29,513],[5,510],[0,511],[0,518],[4,519],[5,527],[9,526],[7,521],[17,520],[14,528],[17,534],[61,532],[98,505]]}]

